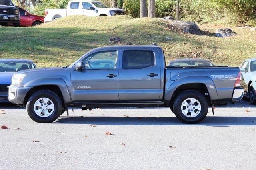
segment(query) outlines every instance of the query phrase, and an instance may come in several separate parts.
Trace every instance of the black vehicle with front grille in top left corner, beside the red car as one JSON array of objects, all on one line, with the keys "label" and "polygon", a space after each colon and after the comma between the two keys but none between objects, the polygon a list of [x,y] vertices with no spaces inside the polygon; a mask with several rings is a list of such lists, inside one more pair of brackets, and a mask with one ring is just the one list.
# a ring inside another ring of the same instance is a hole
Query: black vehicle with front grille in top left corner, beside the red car
[{"label": "black vehicle with front grille in top left corner, beside the red car", "polygon": [[7,26],[8,23],[20,26],[19,7],[14,6],[11,0],[0,0],[0,25]]}]

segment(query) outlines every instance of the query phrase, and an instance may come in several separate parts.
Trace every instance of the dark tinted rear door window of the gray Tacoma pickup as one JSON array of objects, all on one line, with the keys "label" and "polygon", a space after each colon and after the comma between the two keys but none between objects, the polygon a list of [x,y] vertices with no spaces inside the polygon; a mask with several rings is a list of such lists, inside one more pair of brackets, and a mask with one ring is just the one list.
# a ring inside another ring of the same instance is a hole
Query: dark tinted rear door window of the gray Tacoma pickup
[{"label": "dark tinted rear door window of the gray Tacoma pickup", "polygon": [[122,57],[123,69],[141,69],[155,65],[154,52],[150,50],[125,50]]}]

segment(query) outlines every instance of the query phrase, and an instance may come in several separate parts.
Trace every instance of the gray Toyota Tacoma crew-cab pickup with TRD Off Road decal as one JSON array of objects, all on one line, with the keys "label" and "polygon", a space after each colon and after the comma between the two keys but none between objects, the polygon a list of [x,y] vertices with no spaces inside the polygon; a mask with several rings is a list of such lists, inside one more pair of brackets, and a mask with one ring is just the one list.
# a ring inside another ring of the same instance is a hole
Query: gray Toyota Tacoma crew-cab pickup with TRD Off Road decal
[{"label": "gray Toyota Tacoma crew-cab pickup with TRD Off Road decal", "polygon": [[208,107],[243,97],[236,67],[168,67],[161,47],[92,49],[67,68],[23,70],[12,77],[9,100],[38,123],[68,107],[170,107],[184,123],[198,123]]}]

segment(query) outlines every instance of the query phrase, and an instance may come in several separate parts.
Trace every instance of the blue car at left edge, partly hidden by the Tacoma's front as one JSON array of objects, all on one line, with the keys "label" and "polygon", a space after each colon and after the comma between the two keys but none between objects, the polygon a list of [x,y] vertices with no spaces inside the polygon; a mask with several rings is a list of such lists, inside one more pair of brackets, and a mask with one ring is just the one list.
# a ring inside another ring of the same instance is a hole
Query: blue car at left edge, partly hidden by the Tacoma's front
[{"label": "blue car at left edge, partly hidden by the Tacoma's front", "polygon": [[30,60],[24,59],[0,59],[0,102],[9,102],[8,86],[12,82],[14,72],[36,68]]}]

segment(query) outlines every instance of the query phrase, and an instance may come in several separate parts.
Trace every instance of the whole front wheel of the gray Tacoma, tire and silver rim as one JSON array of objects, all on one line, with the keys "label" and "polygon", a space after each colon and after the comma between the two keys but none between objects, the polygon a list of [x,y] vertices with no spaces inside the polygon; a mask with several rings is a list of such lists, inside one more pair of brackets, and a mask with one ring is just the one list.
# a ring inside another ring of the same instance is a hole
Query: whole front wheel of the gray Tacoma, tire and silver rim
[{"label": "whole front wheel of the gray Tacoma, tire and silver rim", "polygon": [[35,92],[27,102],[29,117],[38,123],[51,123],[58,119],[62,111],[60,97],[50,90]]}]

